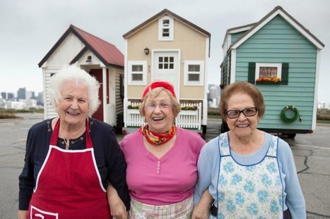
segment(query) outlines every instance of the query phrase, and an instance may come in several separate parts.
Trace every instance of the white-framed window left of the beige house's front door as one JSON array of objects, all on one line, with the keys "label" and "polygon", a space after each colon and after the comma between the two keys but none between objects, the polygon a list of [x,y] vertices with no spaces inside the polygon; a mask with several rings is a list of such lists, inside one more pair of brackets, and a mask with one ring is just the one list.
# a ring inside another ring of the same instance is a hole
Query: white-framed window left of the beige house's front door
[{"label": "white-framed window left of the beige house's front door", "polygon": [[129,61],[128,62],[129,85],[146,85],[147,62]]}]

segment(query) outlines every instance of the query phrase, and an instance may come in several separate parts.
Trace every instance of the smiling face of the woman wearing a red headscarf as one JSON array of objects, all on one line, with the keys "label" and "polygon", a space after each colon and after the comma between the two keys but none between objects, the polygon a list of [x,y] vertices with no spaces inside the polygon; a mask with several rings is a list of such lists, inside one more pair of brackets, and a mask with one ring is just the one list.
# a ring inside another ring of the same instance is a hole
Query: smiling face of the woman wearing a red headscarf
[{"label": "smiling face of the woman wearing a red headscarf", "polygon": [[148,97],[144,106],[145,118],[151,132],[165,133],[175,119],[170,94],[162,91],[155,98]]}]

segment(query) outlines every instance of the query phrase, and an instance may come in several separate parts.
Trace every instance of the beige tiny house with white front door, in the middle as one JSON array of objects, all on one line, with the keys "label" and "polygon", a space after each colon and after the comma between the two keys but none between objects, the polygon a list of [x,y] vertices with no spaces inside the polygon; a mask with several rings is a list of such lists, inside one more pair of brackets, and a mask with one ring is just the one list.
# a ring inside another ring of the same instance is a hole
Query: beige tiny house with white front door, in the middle
[{"label": "beige tiny house with white front door, in the middle", "polygon": [[199,106],[198,127],[206,130],[206,83],[211,34],[165,9],[123,37],[126,42],[125,127],[131,126],[127,108],[141,101],[146,85],[155,80],[166,80],[175,87],[180,103]]}]

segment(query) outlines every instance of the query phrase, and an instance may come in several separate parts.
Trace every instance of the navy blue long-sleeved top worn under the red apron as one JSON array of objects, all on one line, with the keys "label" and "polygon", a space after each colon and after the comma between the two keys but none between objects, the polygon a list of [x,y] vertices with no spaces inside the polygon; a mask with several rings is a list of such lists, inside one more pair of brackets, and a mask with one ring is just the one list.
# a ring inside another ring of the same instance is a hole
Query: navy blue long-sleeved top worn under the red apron
[{"label": "navy blue long-sleeved top worn under the red apron", "polygon": [[[117,189],[119,197],[129,209],[129,191],[126,184],[126,161],[119,148],[111,125],[89,118],[90,138],[93,142],[95,161],[102,180]],[[28,210],[37,175],[44,163],[52,137],[52,119],[33,125],[26,141],[25,165],[19,176],[19,210]],[[86,133],[77,139],[70,139],[70,150],[86,149]],[[65,148],[64,140],[59,138],[57,146]],[[74,168],[74,167],[73,167]],[[79,183],[79,182],[76,182]]]}]

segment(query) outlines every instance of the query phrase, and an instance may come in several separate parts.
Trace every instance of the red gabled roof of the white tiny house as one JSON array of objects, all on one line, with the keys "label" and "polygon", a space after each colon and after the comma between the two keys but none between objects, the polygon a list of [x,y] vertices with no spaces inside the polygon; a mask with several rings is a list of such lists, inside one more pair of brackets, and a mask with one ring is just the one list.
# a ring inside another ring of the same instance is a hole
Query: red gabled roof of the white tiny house
[{"label": "red gabled roof of the white tiny house", "polygon": [[61,36],[61,38],[57,41],[57,43],[52,47],[52,49],[47,53],[47,55],[42,58],[42,61],[38,64],[39,67],[42,66],[45,61],[49,58],[49,56],[52,55],[52,53],[57,49],[57,47],[61,44],[61,42],[64,41],[64,39],[69,35],[69,33],[73,33],[78,37],[78,39],[85,44],[85,48],[82,50],[83,52],[80,52],[77,54],[75,58],[73,58],[73,61],[71,63],[75,63],[78,58],[80,58],[84,51],[87,51],[87,49],[90,49],[90,51],[95,54],[95,56],[98,56],[100,61],[104,63],[106,66],[117,66],[124,68],[124,55],[122,54],[119,49],[117,49],[116,46],[113,44],[110,44],[109,42],[104,41],[103,39],[100,39],[98,37],[95,37],[94,35],[91,35],[90,33],[81,30],[78,27],[75,27],[73,25],[69,26],[69,29],[64,32],[64,35]]}]

